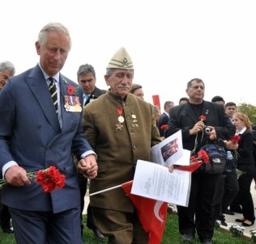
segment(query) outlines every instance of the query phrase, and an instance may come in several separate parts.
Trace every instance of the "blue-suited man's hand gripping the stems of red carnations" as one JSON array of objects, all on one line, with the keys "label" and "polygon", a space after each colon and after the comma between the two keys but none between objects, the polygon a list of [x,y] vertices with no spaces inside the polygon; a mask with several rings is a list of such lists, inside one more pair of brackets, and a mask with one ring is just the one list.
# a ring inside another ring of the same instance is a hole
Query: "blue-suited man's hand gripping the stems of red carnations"
[{"label": "blue-suited man's hand gripping the stems of red carnations", "polygon": [[15,187],[22,187],[23,185],[29,185],[31,183],[26,170],[20,166],[11,166],[7,169],[5,178],[8,183]]}]

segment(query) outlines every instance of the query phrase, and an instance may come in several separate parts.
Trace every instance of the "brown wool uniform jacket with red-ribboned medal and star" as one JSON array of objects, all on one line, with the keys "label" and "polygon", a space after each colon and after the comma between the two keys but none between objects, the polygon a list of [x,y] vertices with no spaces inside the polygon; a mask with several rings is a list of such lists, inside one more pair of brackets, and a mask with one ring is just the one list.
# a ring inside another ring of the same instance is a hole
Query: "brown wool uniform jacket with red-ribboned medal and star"
[{"label": "brown wool uniform jacket with red-ribboned medal and star", "polygon": [[[117,108],[123,110],[123,123],[118,121]],[[109,90],[83,108],[83,129],[97,154],[99,167],[96,179],[90,182],[90,193],[133,180],[137,160],[150,163],[151,146],[161,141],[150,103],[131,94],[123,101]],[[90,204],[96,208],[134,211],[122,187],[91,196]]]}]

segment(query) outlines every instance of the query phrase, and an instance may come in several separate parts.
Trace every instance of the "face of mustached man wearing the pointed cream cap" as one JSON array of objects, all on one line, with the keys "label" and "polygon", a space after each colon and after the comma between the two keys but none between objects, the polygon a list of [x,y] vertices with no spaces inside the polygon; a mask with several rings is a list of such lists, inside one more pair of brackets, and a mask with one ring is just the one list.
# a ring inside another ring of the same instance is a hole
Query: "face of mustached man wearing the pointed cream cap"
[{"label": "face of mustached man wearing the pointed cream cap", "polygon": [[134,70],[114,69],[110,76],[105,75],[105,82],[107,86],[110,86],[113,95],[124,99],[130,92],[133,78]]}]

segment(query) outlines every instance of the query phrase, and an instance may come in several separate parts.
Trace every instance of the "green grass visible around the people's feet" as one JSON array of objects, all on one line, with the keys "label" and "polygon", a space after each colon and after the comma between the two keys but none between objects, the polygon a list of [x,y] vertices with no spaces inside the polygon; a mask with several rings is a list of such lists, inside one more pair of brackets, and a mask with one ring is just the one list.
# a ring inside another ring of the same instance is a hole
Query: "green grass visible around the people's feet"
[{"label": "green grass visible around the people's feet", "polygon": [[[86,223],[86,215],[83,218],[84,223]],[[85,224],[86,226],[86,224]],[[231,233],[224,232],[220,228],[215,229],[214,237],[213,237],[214,244],[246,244],[252,243],[251,241],[246,241],[242,238],[234,238]],[[13,234],[2,233],[0,230],[0,244],[15,244],[15,238]],[[84,228],[83,231],[83,244],[105,244],[107,242],[100,242],[98,241],[92,231]],[[178,233],[177,229],[177,214],[176,213],[169,213],[164,229],[164,237],[161,244],[181,244],[181,236]],[[196,236],[194,244],[199,244],[199,239]],[[62,243],[59,243],[62,244]],[[71,243],[70,243],[71,244]]]}]

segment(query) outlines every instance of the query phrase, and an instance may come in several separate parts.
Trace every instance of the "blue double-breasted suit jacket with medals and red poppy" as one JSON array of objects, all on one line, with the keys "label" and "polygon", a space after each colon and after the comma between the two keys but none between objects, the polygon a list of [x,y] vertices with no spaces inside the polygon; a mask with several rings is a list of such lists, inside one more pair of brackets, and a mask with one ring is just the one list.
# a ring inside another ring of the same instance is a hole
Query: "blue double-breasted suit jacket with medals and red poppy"
[{"label": "blue double-breasted suit jacket with medals and red poppy", "polygon": [[62,212],[79,206],[79,185],[72,154],[78,158],[92,149],[83,136],[82,112],[66,111],[67,86],[82,87],[60,74],[62,128],[58,123],[45,77],[39,67],[10,79],[0,95],[0,170],[14,160],[27,172],[56,166],[66,176],[65,187],[43,193],[37,183],[2,188],[2,203],[30,211]]}]

